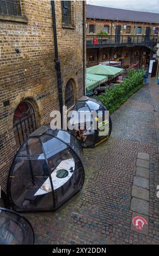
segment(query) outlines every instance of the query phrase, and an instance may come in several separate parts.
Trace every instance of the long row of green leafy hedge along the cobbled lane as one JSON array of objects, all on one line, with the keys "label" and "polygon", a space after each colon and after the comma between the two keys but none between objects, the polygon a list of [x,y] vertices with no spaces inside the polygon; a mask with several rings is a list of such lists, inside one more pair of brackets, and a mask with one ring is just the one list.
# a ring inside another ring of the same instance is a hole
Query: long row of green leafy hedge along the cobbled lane
[{"label": "long row of green leafy hedge along the cobbled lane", "polygon": [[130,70],[129,78],[125,79],[119,86],[105,89],[105,93],[99,96],[94,96],[99,99],[112,113],[122,103],[124,103],[133,93],[135,93],[144,82],[143,70]]}]

